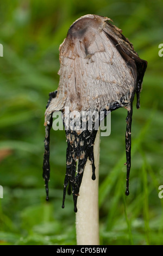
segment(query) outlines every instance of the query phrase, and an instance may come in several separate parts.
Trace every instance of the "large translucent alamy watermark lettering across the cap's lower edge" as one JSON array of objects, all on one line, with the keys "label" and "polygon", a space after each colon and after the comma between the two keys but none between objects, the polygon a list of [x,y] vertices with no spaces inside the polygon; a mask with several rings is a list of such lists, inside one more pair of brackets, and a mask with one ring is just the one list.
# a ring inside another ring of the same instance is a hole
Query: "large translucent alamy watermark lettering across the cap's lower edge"
[{"label": "large translucent alamy watermark lettering across the cap's lower edge", "polygon": [[[53,130],[99,130],[101,136],[109,136],[111,133],[111,112],[110,111],[70,111],[65,107],[64,117],[61,111],[53,113]],[[64,125],[63,125],[64,121]]]}]

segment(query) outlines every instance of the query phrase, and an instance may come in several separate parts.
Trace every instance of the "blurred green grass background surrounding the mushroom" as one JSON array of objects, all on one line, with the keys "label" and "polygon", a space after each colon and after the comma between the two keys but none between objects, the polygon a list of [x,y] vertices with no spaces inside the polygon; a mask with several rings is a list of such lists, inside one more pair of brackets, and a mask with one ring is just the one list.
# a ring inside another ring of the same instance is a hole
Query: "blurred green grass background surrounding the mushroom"
[{"label": "blurred green grass background surrounding the mushroom", "polygon": [[59,45],[73,21],[108,16],[148,61],[141,108],[132,126],[130,195],[126,187],[126,109],[111,114],[101,137],[99,224],[101,245],[162,245],[162,1],[0,0],[1,245],[76,245],[72,196],[61,209],[66,165],[64,131],[51,132],[51,200],[42,179],[44,112],[57,89]]}]

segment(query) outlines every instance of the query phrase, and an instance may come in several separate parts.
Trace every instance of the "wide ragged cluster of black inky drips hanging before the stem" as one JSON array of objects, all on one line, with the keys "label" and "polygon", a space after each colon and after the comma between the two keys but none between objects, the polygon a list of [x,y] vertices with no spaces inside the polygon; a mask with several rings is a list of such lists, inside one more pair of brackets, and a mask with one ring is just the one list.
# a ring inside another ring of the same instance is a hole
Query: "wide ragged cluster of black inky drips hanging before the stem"
[{"label": "wide ragged cluster of black inky drips hanging before the stem", "polygon": [[[96,179],[95,175],[95,159],[93,155],[93,144],[95,143],[97,130],[85,130],[78,134],[76,131],[66,131],[67,151],[66,151],[66,174],[64,181],[64,193],[62,200],[62,208],[65,207],[66,188],[68,193],[72,191],[74,212],[77,212],[77,198],[82,183],[84,168],[87,158],[92,164],[92,180]],[[76,163],[78,160],[78,170],[76,174]]]}]

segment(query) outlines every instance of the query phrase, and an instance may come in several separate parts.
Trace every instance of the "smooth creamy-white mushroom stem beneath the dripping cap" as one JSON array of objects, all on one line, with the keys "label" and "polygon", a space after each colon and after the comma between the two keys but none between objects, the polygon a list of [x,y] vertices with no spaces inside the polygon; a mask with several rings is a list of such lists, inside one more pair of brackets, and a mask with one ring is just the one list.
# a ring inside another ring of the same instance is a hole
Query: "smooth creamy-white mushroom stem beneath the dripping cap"
[{"label": "smooth creamy-white mushroom stem beneath the dripping cap", "polygon": [[87,159],[84,169],[80,196],[77,202],[76,234],[77,245],[99,245],[99,216],[98,216],[98,176],[99,176],[99,144],[100,130],[97,132],[94,156],[96,180],[92,180],[92,166]]}]

